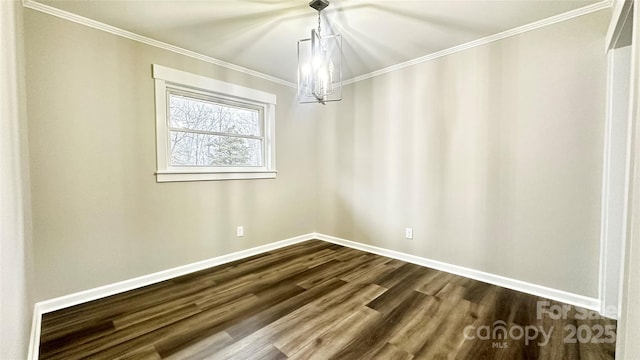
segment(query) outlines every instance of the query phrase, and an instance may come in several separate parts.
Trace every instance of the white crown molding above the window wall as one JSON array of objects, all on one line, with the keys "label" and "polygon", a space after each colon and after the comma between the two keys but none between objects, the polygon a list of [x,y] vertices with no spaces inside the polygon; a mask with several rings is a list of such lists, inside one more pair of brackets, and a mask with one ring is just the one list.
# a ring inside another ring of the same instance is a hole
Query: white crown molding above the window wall
[{"label": "white crown molding above the window wall", "polygon": [[175,46],[175,45],[171,45],[159,40],[155,40],[152,39],[150,37],[147,36],[142,36],[139,34],[136,34],[134,32],[131,31],[127,31],[115,26],[111,26],[111,25],[107,25],[105,23],[99,22],[99,21],[95,21],[89,18],[86,18],[84,16],[80,16],[80,15],[76,15],[73,14],[71,12],[68,11],[64,11],[64,10],[60,10],[58,8],[55,8],[53,6],[49,6],[49,5],[45,5],[42,3],[39,3],[37,1],[34,0],[22,0],[22,6],[29,8],[31,10],[36,10],[36,11],[40,11],[42,13],[48,14],[48,15],[52,15],[61,19],[65,19],[65,20],[69,20],[72,21],[74,23],[80,24],[80,25],[84,25],[84,26],[88,26],[90,28],[93,29],[97,29],[97,30],[101,30],[113,35],[117,35],[129,40],[133,40],[133,41],[137,41],[146,45],[150,45],[150,46],[154,46],[160,49],[164,49],[167,51],[171,51],[180,55],[184,55],[190,58],[194,58],[197,60],[201,60],[201,61],[205,61],[208,62],[210,64],[214,64],[214,65],[218,65],[230,70],[234,70],[234,71],[238,71],[247,75],[251,75],[251,76],[255,76],[261,79],[265,79],[268,81],[272,81],[274,83],[280,84],[280,85],[284,85],[284,86],[288,86],[291,88],[296,88],[297,85],[295,83],[292,83],[290,81],[284,80],[284,79],[280,79],[277,78],[275,76],[271,76],[271,75],[267,75],[264,73],[261,73],[259,71],[255,71],[255,70],[251,70],[249,68],[243,67],[243,66],[239,66],[239,65],[235,65],[220,59],[216,59],[207,55],[203,55],[200,53],[197,53],[195,51],[191,51],[191,50],[187,50],[184,48],[181,48],[179,46]]}]

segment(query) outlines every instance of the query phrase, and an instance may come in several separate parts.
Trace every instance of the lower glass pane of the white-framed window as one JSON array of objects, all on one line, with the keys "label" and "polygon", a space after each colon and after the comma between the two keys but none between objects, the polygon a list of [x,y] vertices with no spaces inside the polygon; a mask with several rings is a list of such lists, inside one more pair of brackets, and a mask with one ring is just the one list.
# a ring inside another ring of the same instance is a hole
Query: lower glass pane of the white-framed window
[{"label": "lower glass pane of the white-framed window", "polygon": [[171,131],[173,166],[262,166],[262,140]]}]

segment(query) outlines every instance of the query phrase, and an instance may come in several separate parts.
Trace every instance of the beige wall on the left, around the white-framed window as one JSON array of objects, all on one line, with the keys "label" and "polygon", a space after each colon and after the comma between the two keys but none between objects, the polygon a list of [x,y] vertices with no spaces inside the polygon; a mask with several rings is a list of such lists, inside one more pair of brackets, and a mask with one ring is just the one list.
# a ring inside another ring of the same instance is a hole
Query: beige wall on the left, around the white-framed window
[{"label": "beige wall on the left, around the white-framed window", "polygon": [[[32,10],[25,32],[37,300],[313,231],[295,89]],[[276,94],[277,179],[156,183],[153,63]]]}]

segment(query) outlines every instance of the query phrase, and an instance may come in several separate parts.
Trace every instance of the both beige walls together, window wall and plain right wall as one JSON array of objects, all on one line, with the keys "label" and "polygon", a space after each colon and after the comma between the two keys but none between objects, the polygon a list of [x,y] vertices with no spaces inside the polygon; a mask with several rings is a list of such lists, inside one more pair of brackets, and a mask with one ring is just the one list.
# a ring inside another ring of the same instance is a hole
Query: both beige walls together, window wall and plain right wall
[{"label": "both beige walls together, window wall and plain right wall", "polygon": [[[596,297],[607,22],[299,106],[294,89],[26,10],[36,299],[312,231]],[[277,94],[278,178],[157,184],[152,63]]]}]

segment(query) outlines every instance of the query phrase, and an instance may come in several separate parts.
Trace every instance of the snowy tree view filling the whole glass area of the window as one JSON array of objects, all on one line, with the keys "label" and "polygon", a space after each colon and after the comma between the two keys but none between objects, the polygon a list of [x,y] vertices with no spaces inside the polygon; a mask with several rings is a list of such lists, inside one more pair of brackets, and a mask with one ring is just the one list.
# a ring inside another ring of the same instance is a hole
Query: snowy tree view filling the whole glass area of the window
[{"label": "snowy tree view filling the whole glass area of the window", "polygon": [[262,166],[261,127],[260,111],[246,105],[169,94],[173,166]]}]

